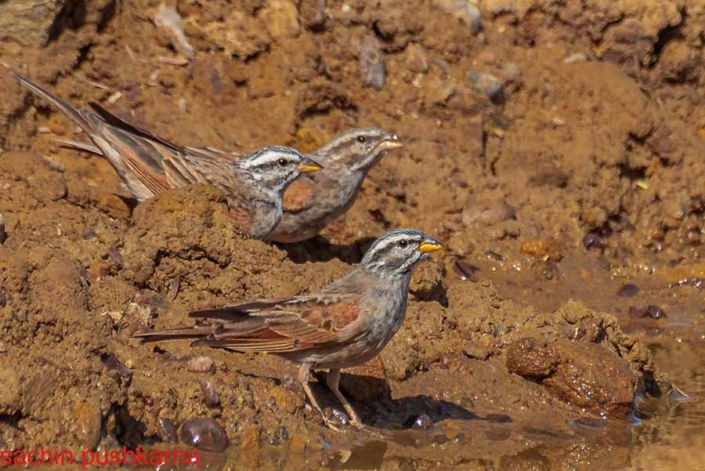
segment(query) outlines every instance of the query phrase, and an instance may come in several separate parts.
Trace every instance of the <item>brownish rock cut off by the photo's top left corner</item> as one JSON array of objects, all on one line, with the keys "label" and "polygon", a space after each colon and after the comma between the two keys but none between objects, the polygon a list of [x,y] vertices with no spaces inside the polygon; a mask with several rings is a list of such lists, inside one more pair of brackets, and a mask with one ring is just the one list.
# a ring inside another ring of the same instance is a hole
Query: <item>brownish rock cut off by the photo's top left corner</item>
[{"label": "brownish rock cut off by the photo's top left corner", "polygon": [[23,46],[45,46],[57,19],[73,0],[13,0],[0,2],[0,39]]}]

